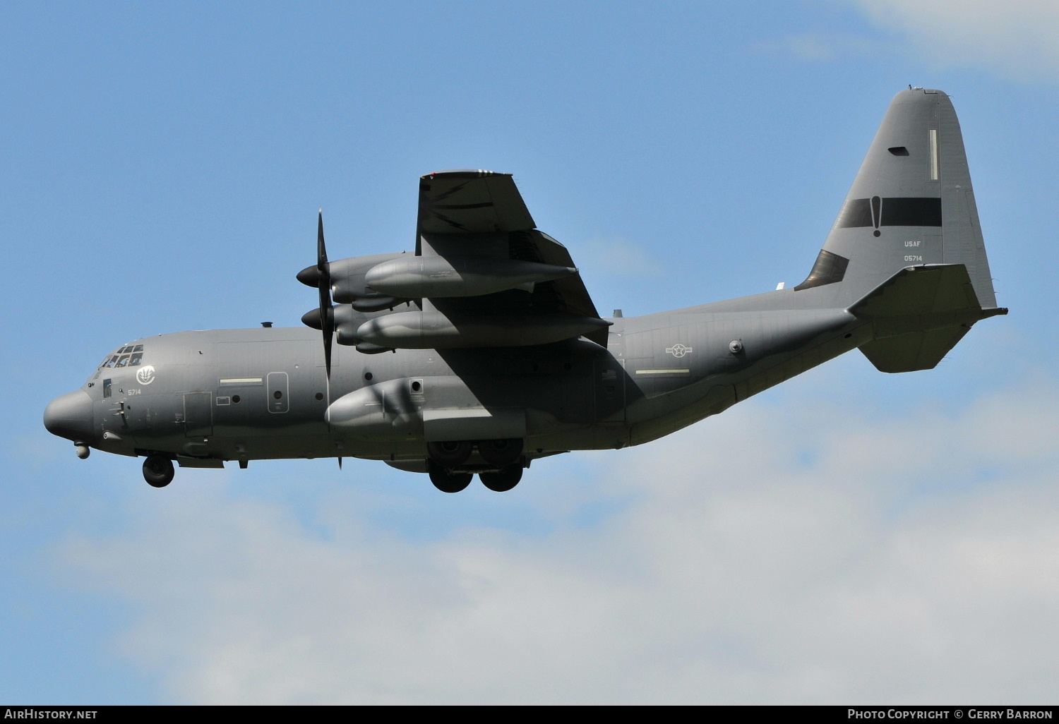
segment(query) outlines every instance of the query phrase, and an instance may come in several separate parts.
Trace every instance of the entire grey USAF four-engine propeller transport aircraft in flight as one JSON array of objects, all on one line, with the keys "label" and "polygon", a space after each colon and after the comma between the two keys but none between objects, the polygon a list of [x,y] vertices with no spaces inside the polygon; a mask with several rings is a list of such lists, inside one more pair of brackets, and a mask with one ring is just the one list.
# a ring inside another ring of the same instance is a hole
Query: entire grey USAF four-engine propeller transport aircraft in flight
[{"label": "entire grey USAF four-engine propeller transport aircraft in flight", "polygon": [[[805,282],[623,318],[596,311],[570,253],[511,176],[419,179],[414,253],[328,261],[323,218],[307,327],[160,334],[109,352],[44,426],[173,463],[343,456],[477,473],[510,490],[533,460],[648,442],[854,348],[930,369],[998,308],[959,124],[936,90],[899,92]],[[780,285],[782,286],[782,285]],[[321,344],[321,332],[323,342]],[[334,345],[333,342],[337,342]]]}]

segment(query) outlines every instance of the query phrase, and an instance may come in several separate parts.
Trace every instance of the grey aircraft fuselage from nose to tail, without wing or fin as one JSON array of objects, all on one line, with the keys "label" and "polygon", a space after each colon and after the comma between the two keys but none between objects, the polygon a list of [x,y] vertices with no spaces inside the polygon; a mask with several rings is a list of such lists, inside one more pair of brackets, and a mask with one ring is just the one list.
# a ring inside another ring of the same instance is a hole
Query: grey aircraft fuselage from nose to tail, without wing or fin
[{"label": "grey aircraft fuselage from nose to tail, without wing or fin", "polygon": [[[160,334],[123,345],[143,346],[140,365],[100,367],[68,396],[80,422],[67,432],[125,455],[425,459],[421,423],[381,419],[361,431],[325,421],[329,400],[375,387],[392,390],[379,405],[391,417],[414,419],[439,405],[524,410],[531,457],[622,448],[720,412],[867,339],[857,333],[866,323],[845,311],[767,309],[769,297],[782,304],[794,293],[766,294],[758,311],[724,311],[721,303],[609,320],[607,348],[585,339],[381,355],[339,346],[329,394],[312,329]],[[741,349],[733,351],[733,341]]]}]

